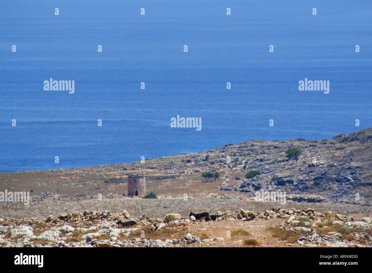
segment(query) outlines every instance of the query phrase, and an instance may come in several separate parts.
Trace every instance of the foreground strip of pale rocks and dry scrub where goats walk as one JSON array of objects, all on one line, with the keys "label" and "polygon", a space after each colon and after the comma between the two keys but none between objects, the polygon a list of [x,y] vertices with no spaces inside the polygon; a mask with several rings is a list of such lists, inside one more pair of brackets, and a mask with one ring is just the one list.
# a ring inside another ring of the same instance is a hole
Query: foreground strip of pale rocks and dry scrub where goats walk
[{"label": "foreground strip of pale rocks and dry scrub where goats walk", "polygon": [[178,213],[133,218],[126,210],[0,218],[0,247],[372,247],[369,217],[274,207],[264,213],[218,211],[214,218],[198,222]]}]

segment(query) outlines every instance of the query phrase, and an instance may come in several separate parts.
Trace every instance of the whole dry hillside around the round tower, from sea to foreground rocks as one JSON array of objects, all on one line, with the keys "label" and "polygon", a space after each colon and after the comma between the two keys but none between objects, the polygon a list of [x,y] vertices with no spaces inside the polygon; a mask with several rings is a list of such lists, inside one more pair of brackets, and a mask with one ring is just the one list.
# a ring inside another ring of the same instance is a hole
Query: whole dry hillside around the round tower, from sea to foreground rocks
[{"label": "whole dry hillside around the round tower, from sea to foreground rocks", "polygon": [[[298,161],[285,152],[299,148]],[[29,205],[0,202],[0,217],[32,218],[84,210],[161,217],[178,211],[267,210],[257,191],[286,192],[282,208],[300,205],[338,213],[371,213],[372,128],[333,139],[251,140],[192,154],[84,168],[0,173],[0,191],[30,191]],[[249,170],[261,174],[245,178]],[[220,176],[208,182],[203,172]],[[129,174],[146,176],[147,193],[158,199],[127,196]],[[98,197],[102,198],[99,199]],[[277,205],[277,204],[276,204]]]}]

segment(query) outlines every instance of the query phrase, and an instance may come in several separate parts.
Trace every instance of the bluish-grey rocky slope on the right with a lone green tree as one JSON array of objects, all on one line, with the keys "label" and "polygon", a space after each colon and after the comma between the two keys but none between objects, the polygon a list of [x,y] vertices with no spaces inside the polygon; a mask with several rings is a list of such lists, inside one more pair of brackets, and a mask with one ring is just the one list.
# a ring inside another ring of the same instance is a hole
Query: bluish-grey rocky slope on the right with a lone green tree
[{"label": "bluish-grey rocky slope on the right with a lone green tree", "polygon": [[[284,152],[288,148],[300,148],[298,161],[288,160]],[[372,129],[350,135],[337,135],[333,140],[291,139],[289,141],[249,141],[239,145],[226,145],[212,150],[207,162],[224,166],[218,160],[222,154],[231,155],[236,164],[232,171],[241,171],[241,180],[222,190],[243,191],[254,194],[265,190],[286,191],[301,200],[304,194],[320,195],[309,201],[355,203],[356,194],[363,201],[372,199]],[[213,166],[215,167],[215,166]],[[248,169],[262,172],[258,177],[241,179]],[[302,195],[302,196],[301,196]],[[304,198],[304,200],[306,200]]]}]

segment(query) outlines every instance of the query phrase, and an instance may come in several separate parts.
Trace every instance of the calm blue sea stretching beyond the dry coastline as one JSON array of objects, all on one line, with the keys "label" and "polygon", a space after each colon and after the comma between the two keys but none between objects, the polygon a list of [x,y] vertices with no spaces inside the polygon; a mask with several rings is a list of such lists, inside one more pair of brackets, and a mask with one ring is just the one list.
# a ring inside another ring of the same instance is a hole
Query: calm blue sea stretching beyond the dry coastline
[{"label": "calm blue sea stretching beyond the dry coastline", "polygon": [[[0,172],[372,127],[371,37],[365,0],[1,1]],[[44,91],[50,78],[75,92]],[[305,78],[330,92],[299,91]]]}]

